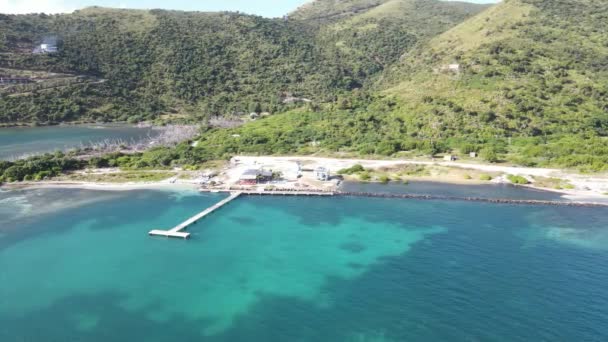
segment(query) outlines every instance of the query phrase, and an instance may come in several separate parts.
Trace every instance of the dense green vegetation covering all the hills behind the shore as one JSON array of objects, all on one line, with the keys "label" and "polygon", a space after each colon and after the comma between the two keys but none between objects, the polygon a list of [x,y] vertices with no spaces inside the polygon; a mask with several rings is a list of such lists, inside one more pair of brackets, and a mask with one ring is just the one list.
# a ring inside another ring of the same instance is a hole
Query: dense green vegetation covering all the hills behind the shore
[{"label": "dense green vegetation covering all the hills behind the shore", "polygon": [[[196,148],[101,161],[126,167],[238,153],[478,152],[489,162],[607,170],[608,2],[505,0],[465,20],[479,10],[320,0],[288,20],[102,9],[0,18],[13,28],[0,36],[5,51],[44,25],[64,36],[56,56],[5,63],[108,80],[0,98],[0,122],[275,114],[209,129]],[[288,93],[313,101],[283,104]]]}]

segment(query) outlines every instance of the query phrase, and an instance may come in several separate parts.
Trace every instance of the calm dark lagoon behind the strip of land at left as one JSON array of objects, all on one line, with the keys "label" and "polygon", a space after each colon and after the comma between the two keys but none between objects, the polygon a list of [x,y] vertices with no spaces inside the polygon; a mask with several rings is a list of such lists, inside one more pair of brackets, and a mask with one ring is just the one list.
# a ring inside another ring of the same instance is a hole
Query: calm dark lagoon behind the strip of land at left
[{"label": "calm dark lagoon behind the strip of land at left", "polygon": [[109,140],[139,141],[158,132],[132,125],[71,125],[0,128],[0,159],[67,150]]}]

